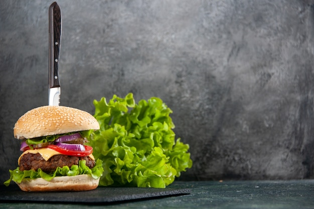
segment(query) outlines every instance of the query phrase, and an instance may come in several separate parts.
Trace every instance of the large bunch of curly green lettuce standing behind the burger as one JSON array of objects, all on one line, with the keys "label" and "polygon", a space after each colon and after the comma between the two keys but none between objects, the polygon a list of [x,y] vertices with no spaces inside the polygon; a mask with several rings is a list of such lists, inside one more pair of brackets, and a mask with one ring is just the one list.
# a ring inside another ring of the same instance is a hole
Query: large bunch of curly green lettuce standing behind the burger
[{"label": "large bunch of curly green lettuce standing behind the burger", "polygon": [[176,140],[172,110],[160,98],[136,104],[129,93],[93,104],[100,129],[87,144],[103,161],[99,185],[164,188],[192,167],[189,145]]}]

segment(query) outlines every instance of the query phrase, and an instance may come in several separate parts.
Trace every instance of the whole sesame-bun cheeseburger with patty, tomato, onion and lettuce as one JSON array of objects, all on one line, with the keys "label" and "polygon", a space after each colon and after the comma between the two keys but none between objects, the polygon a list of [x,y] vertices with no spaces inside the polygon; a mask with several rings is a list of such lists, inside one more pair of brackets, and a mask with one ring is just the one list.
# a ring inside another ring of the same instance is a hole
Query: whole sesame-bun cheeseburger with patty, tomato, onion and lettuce
[{"label": "whole sesame-bun cheeseburger with patty, tomato, onion and lettuce", "polygon": [[23,191],[83,191],[98,186],[103,167],[85,145],[99,123],[89,113],[65,106],[42,106],[19,118],[14,137],[21,140],[18,167],[10,170]]}]

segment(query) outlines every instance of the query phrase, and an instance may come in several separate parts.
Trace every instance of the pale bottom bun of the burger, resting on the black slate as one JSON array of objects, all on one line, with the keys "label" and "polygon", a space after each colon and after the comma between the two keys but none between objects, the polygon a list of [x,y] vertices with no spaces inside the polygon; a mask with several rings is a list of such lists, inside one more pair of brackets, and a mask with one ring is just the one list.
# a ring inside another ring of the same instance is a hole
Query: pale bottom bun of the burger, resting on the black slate
[{"label": "pale bottom bun of the burger, resting on the black slate", "polygon": [[23,191],[86,191],[95,189],[99,179],[91,175],[58,176],[50,181],[43,178],[23,179],[18,183]]}]

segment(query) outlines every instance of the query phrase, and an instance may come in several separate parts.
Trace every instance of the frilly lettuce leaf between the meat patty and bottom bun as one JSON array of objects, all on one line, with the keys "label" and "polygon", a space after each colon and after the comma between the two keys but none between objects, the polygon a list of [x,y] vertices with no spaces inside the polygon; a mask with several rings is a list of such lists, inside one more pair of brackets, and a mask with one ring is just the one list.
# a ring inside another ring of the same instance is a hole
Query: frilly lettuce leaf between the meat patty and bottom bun
[{"label": "frilly lettuce leaf between the meat patty and bottom bun", "polygon": [[42,169],[35,170],[24,170],[21,171],[19,167],[15,170],[10,171],[10,179],[4,182],[6,186],[9,186],[10,182],[13,180],[17,183],[21,183],[24,178],[44,178],[47,181],[50,181],[52,178],[56,176],[75,176],[81,174],[90,174],[93,178],[98,179],[102,175],[103,167],[102,161],[100,159],[96,160],[95,166],[93,168],[89,168],[86,166],[85,160],[80,160],[78,165],[57,167],[55,172],[53,173],[45,173]]}]

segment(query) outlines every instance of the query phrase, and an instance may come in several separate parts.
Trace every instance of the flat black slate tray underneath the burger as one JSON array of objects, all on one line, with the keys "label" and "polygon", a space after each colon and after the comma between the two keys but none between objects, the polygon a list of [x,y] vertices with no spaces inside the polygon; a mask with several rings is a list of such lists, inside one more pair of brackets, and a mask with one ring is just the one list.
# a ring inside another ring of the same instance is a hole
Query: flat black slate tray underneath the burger
[{"label": "flat black slate tray underneath the burger", "polygon": [[187,188],[141,188],[98,186],[90,191],[27,192],[17,185],[0,186],[0,202],[110,203],[189,194]]}]

